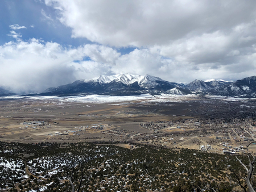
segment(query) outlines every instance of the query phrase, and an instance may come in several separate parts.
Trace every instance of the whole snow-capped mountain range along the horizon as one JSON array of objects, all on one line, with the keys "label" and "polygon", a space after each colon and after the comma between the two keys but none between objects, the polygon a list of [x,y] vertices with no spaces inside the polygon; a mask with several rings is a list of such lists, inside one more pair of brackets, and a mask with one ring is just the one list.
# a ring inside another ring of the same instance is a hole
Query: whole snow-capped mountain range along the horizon
[{"label": "whole snow-capped mountain range along the horizon", "polygon": [[[0,87],[0,95],[10,94]],[[224,80],[194,80],[189,84],[169,82],[150,75],[141,76],[122,73],[113,76],[101,75],[91,80],[77,80],[72,84],[49,87],[39,95],[221,95],[226,97],[256,97],[256,76],[234,82]]]}]

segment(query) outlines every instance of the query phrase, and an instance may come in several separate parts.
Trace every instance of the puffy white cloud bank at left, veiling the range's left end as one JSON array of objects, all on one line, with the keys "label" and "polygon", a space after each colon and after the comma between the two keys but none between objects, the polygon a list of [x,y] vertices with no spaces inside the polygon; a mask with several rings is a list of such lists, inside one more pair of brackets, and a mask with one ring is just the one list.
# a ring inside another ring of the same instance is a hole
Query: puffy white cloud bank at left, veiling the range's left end
[{"label": "puffy white cloud bank at left, veiling the range's left end", "polygon": [[[35,38],[10,41],[0,46],[0,86],[40,92],[113,73],[112,66],[120,56],[115,49],[96,44],[72,48]],[[86,57],[90,60],[84,61]]]}]

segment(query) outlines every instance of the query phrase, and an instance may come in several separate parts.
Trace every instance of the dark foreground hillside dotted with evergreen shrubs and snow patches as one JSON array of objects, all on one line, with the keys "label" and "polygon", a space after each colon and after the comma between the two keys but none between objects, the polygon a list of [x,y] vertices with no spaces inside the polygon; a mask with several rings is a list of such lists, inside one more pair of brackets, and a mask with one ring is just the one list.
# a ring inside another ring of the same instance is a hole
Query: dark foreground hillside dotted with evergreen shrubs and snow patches
[{"label": "dark foreground hillside dotted with evergreen shrubs and snow patches", "polygon": [[3,142],[0,147],[2,191],[72,191],[72,185],[75,191],[232,191],[237,176],[245,176],[236,157],[191,149]]}]

